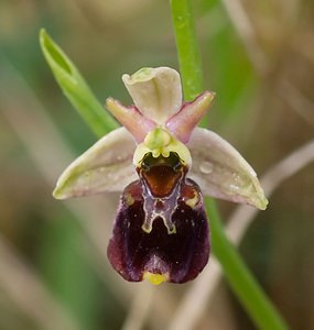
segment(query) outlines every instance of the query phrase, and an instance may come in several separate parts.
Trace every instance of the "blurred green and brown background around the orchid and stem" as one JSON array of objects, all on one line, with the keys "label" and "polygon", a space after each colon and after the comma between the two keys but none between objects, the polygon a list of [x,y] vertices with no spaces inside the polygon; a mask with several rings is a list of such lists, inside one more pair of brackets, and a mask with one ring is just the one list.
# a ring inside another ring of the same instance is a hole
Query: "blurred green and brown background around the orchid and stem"
[{"label": "blurred green and brown background around the orchid and stem", "polygon": [[[314,3],[193,7],[205,86],[217,92],[208,127],[262,176],[314,139]],[[65,202],[51,196],[62,170],[96,138],[56,85],[39,46],[41,28],[101,102],[112,96],[130,103],[124,73],[177,68],[167,1],[0,0],[0,330],[172,329],[195,283],[129,284],[111,270],[106,249],[118,196]],[[312,147],[281,167],[289,173],[304,163],[275,185],[240,243],[297,330],[314,329],[313,158]],[[226,221],[236,208],[219,207]],[[191,327],[255,329],[224,280]]]}]

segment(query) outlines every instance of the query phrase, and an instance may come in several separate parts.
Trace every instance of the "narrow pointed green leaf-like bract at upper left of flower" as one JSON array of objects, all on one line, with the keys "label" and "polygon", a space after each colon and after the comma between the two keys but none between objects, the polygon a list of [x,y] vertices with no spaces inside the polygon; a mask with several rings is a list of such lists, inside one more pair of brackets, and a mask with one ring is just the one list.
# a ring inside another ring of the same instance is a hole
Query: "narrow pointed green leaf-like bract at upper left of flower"
[{"label": "narrow pointed green leaf-like bract at upper left of flower", "polygon": [[40,32],[40,43],[46,62],[64,95],[94,133],[102,136],[118,128],[118,123],[105,111],[76,66],[44,29]]}]

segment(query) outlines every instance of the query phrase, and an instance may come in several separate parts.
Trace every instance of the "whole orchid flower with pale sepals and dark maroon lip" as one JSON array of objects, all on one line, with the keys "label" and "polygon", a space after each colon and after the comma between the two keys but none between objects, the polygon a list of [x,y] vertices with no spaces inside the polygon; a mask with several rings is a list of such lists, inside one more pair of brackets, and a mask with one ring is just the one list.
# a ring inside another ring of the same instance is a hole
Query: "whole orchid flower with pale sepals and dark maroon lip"
[{"label": "whole orchid flower with pale sepals and dark maroon lip", "polygon": [[205,267],[210,243],[203,194],[266,209],[255,170],[216,133],[197,128],[213,102],[182,101],[180,75],[142,68],[122,80],[134,106],[108,98],[123,125],[87,150],[59,177],[54,197],[122,191],[108,246],[127,280],[184,283]]}]

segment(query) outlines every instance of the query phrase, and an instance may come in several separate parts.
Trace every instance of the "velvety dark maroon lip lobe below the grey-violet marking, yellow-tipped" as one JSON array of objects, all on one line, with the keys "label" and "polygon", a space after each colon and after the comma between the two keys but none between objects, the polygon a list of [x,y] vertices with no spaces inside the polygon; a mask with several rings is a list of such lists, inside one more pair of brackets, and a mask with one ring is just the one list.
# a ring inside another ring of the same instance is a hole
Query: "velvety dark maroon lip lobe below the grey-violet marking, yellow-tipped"
[{"label": "velvety dark maroon lip lobe below the grey-violet marking, yellow-tipped", "polygon": [[120,200],[108,246],[112,267],[130,282],[148,278],[154,284],[184,283],[195,278],[209,256],[208,224],[198,186],[190,179],[182,184],[171,218],[175,232],[169,233],[160,217],[147,232],[144,220],[142,184],[137,180],[124,189]]}]

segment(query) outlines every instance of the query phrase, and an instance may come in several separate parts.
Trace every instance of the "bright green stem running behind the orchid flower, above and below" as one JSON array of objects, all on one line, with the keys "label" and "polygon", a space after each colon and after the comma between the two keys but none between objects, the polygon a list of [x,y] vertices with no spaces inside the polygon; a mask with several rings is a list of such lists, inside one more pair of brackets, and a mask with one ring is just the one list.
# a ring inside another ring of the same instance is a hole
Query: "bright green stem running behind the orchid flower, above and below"
[{"label": "bright green stem running behind the orchid flower, above and below", "polygon": [[[190,0],[171,0],[178,63],[186,100],[203,91],[202,61]],[[217,207],[206,199],[210,219],[213,252],[219,260],[226,279],[256,326],[264,330],[288,329],[274,306],[257,283],[236,248],[228,241]]]}]

